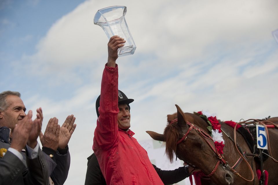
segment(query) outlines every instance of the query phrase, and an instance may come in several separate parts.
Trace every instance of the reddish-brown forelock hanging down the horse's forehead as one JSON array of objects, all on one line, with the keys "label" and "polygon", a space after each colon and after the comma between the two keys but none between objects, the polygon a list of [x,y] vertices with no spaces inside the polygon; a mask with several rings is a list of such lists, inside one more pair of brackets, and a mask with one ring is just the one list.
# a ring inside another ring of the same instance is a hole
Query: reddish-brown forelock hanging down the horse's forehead
[{"label": "reddish-brown forelock hanging down the horse's forehead", "polygon": [[173,163],[174,153],[177,149],[177,141],[179,137],[178,126],[176,123],[170,124],[172,120],[177,118],[177,113],[167,115],[168,124],[164,129],[166,138],[165,153],[171,163]]}]

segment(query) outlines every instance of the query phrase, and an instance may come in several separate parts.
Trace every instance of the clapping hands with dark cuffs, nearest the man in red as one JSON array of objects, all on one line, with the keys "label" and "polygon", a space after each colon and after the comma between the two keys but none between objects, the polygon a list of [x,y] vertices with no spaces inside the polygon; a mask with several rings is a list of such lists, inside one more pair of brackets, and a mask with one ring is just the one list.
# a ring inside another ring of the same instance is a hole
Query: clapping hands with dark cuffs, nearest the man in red
[{"label": "clapping hands with dark cuffs, nearest the man in red", "polygon": [[62,126],[58,124],[56,117],[50,118],[44,134],[41,132],[39,135],[43,147],[48,147],[55,151],[57,148],[65,149],[76,128],[74,122],[75,117],[73,115],[67,116]]}]

